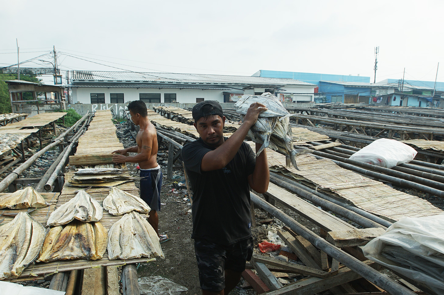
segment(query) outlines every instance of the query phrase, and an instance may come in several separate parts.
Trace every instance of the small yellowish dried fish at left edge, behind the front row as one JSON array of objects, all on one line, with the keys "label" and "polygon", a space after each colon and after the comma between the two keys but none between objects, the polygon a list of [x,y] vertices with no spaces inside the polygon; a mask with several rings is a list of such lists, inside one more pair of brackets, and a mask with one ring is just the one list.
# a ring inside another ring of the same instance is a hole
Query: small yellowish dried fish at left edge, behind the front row
[{"label": "small yellowish dried fish at left edge, behind the front row", "polygon": [[46,206],[48,204],[40,193],[30,186],[0,197],[0,209],[43,208]]}]

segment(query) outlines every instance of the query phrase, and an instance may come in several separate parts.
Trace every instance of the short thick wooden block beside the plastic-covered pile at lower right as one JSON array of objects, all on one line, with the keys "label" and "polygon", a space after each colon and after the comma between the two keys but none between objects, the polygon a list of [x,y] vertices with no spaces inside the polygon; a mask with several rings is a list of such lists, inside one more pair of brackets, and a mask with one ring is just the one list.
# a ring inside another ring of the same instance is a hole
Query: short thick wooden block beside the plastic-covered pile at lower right
[{"label": "short thick wooden block beside the plastic-covered pile at lower right", "polygon": [[383,228],[357,228],[346,231],[328,232],[325,240],[338,248],[355,247],[367,244],[385,232]]}]

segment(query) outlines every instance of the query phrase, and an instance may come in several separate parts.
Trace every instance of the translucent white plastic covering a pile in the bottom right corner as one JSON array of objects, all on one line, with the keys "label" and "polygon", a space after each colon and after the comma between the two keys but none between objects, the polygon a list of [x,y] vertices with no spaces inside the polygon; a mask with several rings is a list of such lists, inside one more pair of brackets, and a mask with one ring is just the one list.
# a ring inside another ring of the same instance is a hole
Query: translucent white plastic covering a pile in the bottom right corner
[{"label": "translucent white plastic covering a pile in the bottom right corner", "polygon": [[362,247],[362,252],[444,295],[444,214],[401,219]]}]

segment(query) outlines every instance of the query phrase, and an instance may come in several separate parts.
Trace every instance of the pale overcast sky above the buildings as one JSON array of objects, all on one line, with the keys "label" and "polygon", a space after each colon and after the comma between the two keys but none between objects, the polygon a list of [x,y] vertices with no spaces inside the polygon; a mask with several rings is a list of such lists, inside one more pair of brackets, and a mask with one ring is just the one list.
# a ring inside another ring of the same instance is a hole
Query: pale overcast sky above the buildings
[{"label": "pale overcast sky above the buildings", "polygon": [[[444,82],[443,11],[442,0],[2,1],[0,67],[17,63],[17,38],[20,61],[55,46],[62,70],[262,69],[373,82],[379,46],[377,82],[401,79],[404,67],[406,80],[434,81],[438,62]],[[38,59],[53,62],[49,54]],[[34,60],[22,67],[42,65],[51,66]]]}]

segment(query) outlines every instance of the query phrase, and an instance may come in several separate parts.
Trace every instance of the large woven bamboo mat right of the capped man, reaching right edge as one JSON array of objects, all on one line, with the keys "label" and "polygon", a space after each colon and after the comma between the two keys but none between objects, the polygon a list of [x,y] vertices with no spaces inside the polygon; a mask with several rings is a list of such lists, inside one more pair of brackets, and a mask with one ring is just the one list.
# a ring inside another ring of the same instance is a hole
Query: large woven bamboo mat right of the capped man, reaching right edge
[{"label": "large woven bamboo mat right of the capped man, reaching right edge", "polygon": [[428,201],[343,169],[328,159],[316,159],[310,154],[298,156],[297,167],[301,170],[298,171],[286,167],[285,156],[280,153],[267,149],[267,157],[270,167],[294,175],[296,179],[304,177],[306,181],[336,193],[357,207],[390,220],[443,213]]}]

